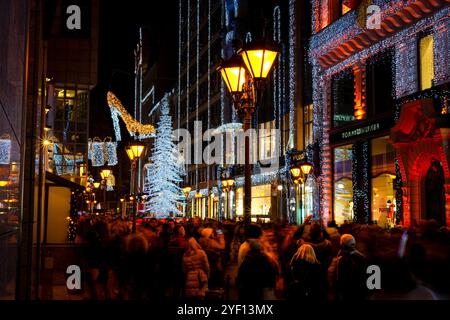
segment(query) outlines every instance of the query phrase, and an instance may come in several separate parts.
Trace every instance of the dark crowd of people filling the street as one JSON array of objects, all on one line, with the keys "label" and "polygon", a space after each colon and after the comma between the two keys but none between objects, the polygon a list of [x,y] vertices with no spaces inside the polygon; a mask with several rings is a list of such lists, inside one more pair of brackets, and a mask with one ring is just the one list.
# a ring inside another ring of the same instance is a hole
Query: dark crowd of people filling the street
[{"label": "dark crowd of people filling the street", "polygon": [[[80,219],[76,242],[87,299],[436,299],[430,287],[450,287],[449,232],[431,224],[148,219],[132,233],[128,221],[94,216]],[[382,290],[369,290],[369,265]]]}]

